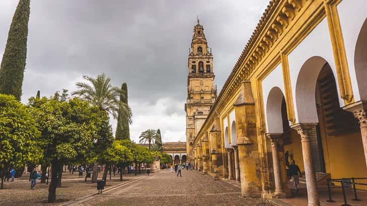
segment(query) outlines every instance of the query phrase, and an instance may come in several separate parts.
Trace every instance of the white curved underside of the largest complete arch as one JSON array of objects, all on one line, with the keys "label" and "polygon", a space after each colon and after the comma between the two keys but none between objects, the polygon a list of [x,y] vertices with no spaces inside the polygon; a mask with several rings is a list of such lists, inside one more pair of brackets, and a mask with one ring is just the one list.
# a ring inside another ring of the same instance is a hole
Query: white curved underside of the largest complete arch
[{"label": "white curved underside of the largest complete arch", "polygon": [[315,92],[319,73],[326,63],[328,62],[323,57],[313,56],[303,63],[298,73],[295,87],[298,123],[319,122]]}]

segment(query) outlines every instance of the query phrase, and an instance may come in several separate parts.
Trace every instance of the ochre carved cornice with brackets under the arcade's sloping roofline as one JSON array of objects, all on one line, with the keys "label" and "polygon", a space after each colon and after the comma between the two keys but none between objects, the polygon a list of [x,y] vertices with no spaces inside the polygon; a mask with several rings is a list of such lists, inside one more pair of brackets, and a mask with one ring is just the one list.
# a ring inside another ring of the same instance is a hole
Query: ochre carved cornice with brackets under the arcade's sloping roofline
[{"label": "ochre carved cornice with brackets under the arcade's sloping roofline", "polygon": [[[247,45],[225,81],[208,118],[199,134],[210,128],[206,123],[213,121],[214,112],[222,111],[234,96],[243,80],[249,79],[262,59],[271,51],[278,38],[303,8],[302,0],[272,0],[265,10]],[[220,113],[220,112],[219,112]],[[218,116],[218,115],[217,115]]]}]

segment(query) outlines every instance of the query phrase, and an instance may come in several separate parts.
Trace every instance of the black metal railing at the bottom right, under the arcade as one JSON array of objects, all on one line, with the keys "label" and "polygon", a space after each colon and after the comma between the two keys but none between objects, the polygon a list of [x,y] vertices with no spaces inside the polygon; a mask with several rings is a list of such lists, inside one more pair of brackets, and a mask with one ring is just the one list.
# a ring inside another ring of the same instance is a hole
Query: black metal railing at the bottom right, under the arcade
[{"label": "black metal railing at the bottom right, under the arcade", "polygon": [[350,206],[350,204],[347,203],[347,198],[345,196],[345,184],[351,184],[353,185],[353,192],[354,192],[354,199],[352,199],[353,201],[360,201],[361,199],[359,199],[357,197],[357,191],[355,189],[355,185],[367,185],[366,183],[357,183],[355,182],[355,180],[358,179],[367,179],[367,177],[359,177],[359,178],[341,178],[341,179],[327,179],[328,181],[328,193],[329,193],[329,199],[326,200],[327,202],[335,202],[334,200],[331,199],[331,191],[330,191],[330,184],[331,182],[340,182],[341,183],[341,189],[343,191],[343,198],[344,198],[344,204],[341,204],[342,206]]}]

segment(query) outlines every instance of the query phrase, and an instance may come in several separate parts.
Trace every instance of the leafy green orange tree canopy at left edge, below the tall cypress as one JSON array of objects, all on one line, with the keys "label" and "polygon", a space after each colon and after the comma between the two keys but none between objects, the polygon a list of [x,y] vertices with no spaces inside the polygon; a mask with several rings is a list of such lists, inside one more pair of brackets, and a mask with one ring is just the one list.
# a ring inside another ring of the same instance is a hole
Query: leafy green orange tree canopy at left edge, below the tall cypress
[{"label": "leafy green orange tree canopy at left edge, below the tall cypress", "polygon": [[[33,111],[15,96],[0,93],[0,173],[3,180],[9,167],[20,168],[37,162],[41,151],[37,145],[40,132]],[[2,184],[3,188],[3,184]]]}]

